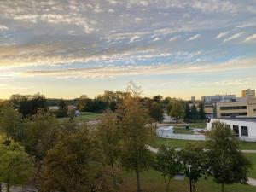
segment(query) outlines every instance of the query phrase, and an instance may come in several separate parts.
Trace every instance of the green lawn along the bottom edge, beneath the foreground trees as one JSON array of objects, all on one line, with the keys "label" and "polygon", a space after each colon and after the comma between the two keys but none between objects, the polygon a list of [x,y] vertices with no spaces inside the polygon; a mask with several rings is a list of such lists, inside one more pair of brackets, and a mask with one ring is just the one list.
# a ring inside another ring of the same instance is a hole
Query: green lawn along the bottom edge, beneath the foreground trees
[{"label": "green lawn along the bottom edge, beneath the foreground trees", "polygon": [[[141,185],[143,192],[163,192],[165,191],[165,183],[160,176],[160,172],[149,170],[143,172],[141,175]],[[120,192],[135,192],[136,191],[136,177],[133,172],[125,172],[123,176],[123,184]],[[196,192],[220,192],[221,186],[212,182],[212,178],[207,180],[201,178],[196,185]],[[242,184],[232,184],[225,186],[225,192],[255,192],[256,187]],[[189,181],[175,181],[172,179],[170,185],[170,192],[189,192]]]}]

